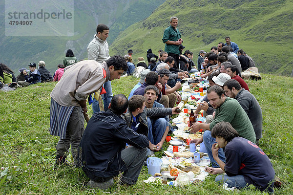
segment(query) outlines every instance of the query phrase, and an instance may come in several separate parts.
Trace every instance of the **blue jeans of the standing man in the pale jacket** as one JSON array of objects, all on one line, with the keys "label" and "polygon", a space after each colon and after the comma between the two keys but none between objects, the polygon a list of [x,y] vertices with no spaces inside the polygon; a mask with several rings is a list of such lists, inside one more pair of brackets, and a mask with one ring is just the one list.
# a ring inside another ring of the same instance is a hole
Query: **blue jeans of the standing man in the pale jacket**
[{"label": "blue jeans of the standing man in the pale jacket", "polygon": [[[103,98],[103,102],[104,102],[104,110],[107,111],[108,106],[109,106],[109,104],[112,100],[112,97],[113,97],[111,81],[105,82],[105,84],[103,86],[106,90],[106,93],[102,94],[102,98]],[[102,87],[100,90],[102,90]],[[95,98],[93,98],[93,101],[94,101],[93,102],[93,113],[99,112],[100,111],[99,101],[96,100]]]}]

